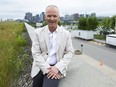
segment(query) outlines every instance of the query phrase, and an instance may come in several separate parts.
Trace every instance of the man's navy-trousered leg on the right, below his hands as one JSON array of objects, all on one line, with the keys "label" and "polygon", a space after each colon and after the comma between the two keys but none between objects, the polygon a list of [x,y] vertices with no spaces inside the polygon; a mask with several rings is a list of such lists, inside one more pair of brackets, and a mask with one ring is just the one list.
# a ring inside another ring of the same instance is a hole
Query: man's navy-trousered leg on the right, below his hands
[{"label": "man's navy-trousered leg on the right, below his hands", "polygon": [[43,86],[42,87],[58,87],[60,79],[51,79],[46,75],[43,78]]}]

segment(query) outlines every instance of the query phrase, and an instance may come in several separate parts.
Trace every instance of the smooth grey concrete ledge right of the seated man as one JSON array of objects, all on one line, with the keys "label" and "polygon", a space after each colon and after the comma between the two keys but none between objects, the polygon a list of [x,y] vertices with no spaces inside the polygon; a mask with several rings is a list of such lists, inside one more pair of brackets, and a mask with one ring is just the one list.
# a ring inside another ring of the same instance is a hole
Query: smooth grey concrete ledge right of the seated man
[{"label": "smooth grey concrete ledge right of the seated man", "polygon": [[67,76],[60,81],[59,87],[116,87],[115,81],[81,60],[82,57],[86,56],[72,58]]}]

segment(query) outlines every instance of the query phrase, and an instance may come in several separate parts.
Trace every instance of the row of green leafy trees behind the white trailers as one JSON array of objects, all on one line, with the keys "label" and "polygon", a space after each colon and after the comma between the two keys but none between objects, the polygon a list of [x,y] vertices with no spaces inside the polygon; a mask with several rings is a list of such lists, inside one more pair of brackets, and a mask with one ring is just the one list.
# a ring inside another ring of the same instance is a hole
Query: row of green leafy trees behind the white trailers
[{"label": "row of green leafy trees behind the white trailers", "polygon": [[93,30],[100,29],[100,33],[108,34],[113,30],[115,33],[116,16],[98,19],[97,17],[81,17],[78,21],[78,29]]}]

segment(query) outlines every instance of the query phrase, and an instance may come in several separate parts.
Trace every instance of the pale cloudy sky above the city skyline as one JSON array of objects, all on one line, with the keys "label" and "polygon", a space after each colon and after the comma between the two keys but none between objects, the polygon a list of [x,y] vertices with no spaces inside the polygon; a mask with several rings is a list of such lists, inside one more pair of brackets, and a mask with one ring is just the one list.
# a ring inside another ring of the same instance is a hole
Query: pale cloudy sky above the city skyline
[{"label": "pale cloudy sky above the city skyline", "polygon": [[45,12],[48,5],[56,5],[61,16],[74,13],[116,15],[116,0],[0,0],[0,19],[24,19],[26,12],[34,16]]}]

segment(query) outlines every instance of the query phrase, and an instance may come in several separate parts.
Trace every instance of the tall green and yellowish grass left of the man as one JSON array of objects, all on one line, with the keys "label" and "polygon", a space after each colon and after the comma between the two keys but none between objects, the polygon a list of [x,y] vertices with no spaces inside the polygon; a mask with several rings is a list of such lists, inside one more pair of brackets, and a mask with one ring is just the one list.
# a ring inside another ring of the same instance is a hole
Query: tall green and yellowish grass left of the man
[{"label": "tall green and yellowish grass left of the man", "polygon": [[10,87],[23,69],[24,28],[23,23],[0,22],[0,87]]}]

